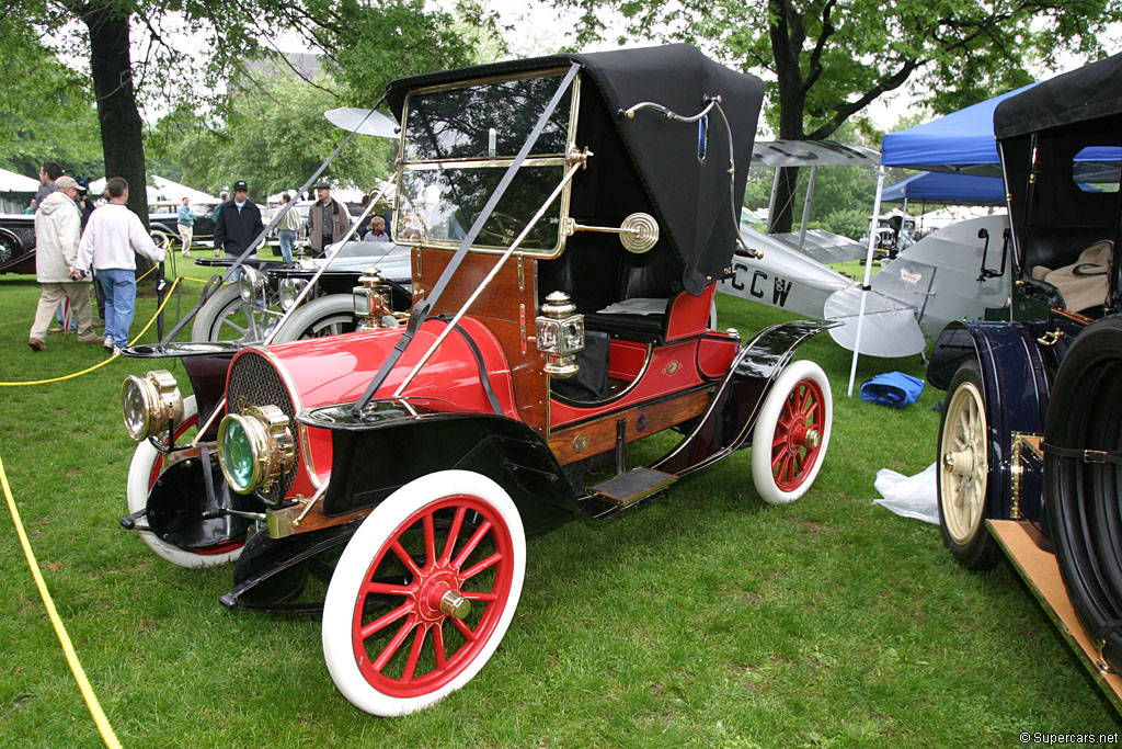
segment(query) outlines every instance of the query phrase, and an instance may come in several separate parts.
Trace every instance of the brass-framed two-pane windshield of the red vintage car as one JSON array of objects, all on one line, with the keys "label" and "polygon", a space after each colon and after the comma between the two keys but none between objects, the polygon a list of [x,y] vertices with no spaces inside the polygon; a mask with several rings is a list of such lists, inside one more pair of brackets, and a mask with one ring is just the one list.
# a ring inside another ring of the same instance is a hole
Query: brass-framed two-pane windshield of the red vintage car
[{"label": "brass-framed two-pane windshield of the red vintage car", "polygon": [[[479,217],[557,91],[564,71],[420,90],[405,102],[395,237],[457,246]],[[504,249],[564,175],[576,129],[573,86],[484,225],[475,246]],[[568,188],[526,236],[521,250],[551,255],[562,245]]]}]

